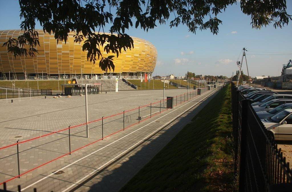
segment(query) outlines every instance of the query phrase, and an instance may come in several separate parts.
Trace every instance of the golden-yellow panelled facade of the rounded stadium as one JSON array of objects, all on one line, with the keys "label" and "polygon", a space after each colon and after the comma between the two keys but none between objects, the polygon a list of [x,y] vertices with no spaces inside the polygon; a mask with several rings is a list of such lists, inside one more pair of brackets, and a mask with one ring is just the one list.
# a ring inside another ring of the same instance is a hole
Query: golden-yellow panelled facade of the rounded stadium
[{"label": "golden-yellow panelled facade of the rounded stadium", "polygon": [[[44,33],[43,30],[36,30],[39,33],[40,46],[37,47],[38,54],[34,57],[14,57],[7,52],[6,47],[2,47],[9,37],[17,38],[23,34],[21,30],[0,31],[0,77],[8,79],[8,75],[16,79],[25,79],[34,76],[59,76],[66,74],[104,74],[99,67],[99,61],[87,61],[86,51],[82,51],[83,43],[74,43],[74,33],[69,33],[68,40],[59,42],[53,34]],[[157,50],[150,42],[132,37],[134,48],[122,52],[119,57],[114,57],[114,74],[136,75],[140,72],[152,73],[157,61]],[[115,55],[113,53],[103,53],[104,57]],[[115,55],[116,56],[116,55]],[[109,71],[108,71],[109,73]]]}]

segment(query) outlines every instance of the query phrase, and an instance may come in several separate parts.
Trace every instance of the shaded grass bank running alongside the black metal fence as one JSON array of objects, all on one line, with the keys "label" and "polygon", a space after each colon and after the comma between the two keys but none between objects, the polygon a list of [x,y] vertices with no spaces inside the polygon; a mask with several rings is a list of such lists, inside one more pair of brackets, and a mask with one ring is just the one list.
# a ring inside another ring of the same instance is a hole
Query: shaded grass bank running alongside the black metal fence
[{"label": "shaded grass bank running alongside the black metal fence", "polygon": [[233,191],[230,85],[121,191]]}]

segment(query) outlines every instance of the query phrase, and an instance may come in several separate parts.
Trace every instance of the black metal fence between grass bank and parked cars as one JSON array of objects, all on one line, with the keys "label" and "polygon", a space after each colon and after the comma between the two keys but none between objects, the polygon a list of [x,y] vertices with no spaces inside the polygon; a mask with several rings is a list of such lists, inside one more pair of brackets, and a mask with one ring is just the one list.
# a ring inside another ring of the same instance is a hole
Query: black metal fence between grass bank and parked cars
[{"label": "black metal fence between grass bank and parked cars", "polygon": [[292,172],[250,101],[232,93],[234,172],[239,191],[292,191]]}]

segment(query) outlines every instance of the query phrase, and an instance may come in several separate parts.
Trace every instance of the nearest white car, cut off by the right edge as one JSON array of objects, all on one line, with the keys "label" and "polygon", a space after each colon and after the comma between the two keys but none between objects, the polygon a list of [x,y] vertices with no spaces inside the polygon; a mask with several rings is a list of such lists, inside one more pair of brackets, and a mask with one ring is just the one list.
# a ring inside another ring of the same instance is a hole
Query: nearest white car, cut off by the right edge
[{"label": "nearest white car, cut off by the right edge", "polygon": [[262,119],[268,134],[275,140],[292,140],[292,109],[285,109],[272,117]]}]

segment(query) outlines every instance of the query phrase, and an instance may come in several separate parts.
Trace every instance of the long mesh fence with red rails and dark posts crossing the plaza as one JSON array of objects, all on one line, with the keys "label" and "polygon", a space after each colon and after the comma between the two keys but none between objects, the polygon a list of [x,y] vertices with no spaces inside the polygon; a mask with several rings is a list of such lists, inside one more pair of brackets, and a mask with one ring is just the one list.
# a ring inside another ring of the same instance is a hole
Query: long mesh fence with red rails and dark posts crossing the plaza
[{"label": "long mesh fence with red rails and dark posts crossing the plaza", "polygon": [[[223,85],[217,87],[221,89]],[[199,95],[208,91],[206,87],[199,90]],[[190,91],[173,97],[173,106],[180,105],[192,98],[198,97],[198,91]],[[131,126],[137,125],[142,121],[154,117],[164,111],[170,110],[167,107],[168,99],[158,100],[147,105],[138,106],[133,109],[124,110],[114,115],[100,117],[74,126],[68,126],[56,131],[46,131],[44,135],[35,135],[33,138],[18,140],[7,146],[0,147],[0,164],[11,163],[9,167],[2,166],[0,173],[6,174],[1,177],[0,185],[13,179],[36,170],[48,163],[56,161],[64,156],[83,149],[89,145],[93,145],[100,140],[108,138],[116,133],[124,131]],[[86,138],[86,126],[91,125],[89,130],[90,138]],[[50,137],[49,137],[50,136]],[[81,142],[82,140],[82,142]],[[16,150],[17,149],[17,150]],[[39,149],[46,150],[46,153],[39,153]],[[31,158],[34,153],[34,158]],[[62,154],[62,155],[60,155]],[[59,156],[60,155],[60,156]],[[51,157],[52,159],[49,159]],[[11,159],[17,160],[11,162]],[[34,159],[44,159],[44,161],[34,161]],[[13,167],[13,169],[11,169]],[[25,171],[21,171],[25,170]],[[6,179],[7,175],[15,175],[10,179]]]}]

